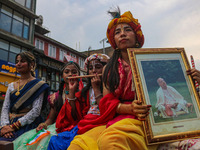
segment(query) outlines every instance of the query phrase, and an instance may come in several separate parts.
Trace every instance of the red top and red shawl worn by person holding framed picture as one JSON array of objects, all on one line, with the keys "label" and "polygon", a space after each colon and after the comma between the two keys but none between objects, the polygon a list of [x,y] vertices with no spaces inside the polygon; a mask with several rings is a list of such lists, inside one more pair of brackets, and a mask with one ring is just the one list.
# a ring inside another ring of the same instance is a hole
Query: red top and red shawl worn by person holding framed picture
[{"label": "red top and red shawl worn by person holding framed picture", "polygon": [[133,115],[122,115],[117,119],[114,119],[117,116],[116,109],[120,102],[119,98],[122,99],[123,103],[123,100],[134,100],[135,97],[135,91],[132,91],[131,67],[124,60],[118,59],[118,62],[120,83],[118,88],[115,90],[115,94],[109,93],[100,100],[100,116],[87,115],[78,123],[78,134],[83,134],[84,132],[100,125],[106,125],[109,121],[111,121],[109,122],[109,125],[111,125],[119,118],[136,118]]}]

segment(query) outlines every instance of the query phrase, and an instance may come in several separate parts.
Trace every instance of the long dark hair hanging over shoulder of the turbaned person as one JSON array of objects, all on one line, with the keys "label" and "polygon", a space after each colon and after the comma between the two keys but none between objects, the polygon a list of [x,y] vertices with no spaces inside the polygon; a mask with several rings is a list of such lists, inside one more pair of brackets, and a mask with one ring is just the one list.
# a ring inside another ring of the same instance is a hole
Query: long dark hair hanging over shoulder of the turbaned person
[{"label": "long dark hair hanging over shoulder of the turbaned person", "polygon": [[118,49],[114,50],[113,55],[104,70],[103,83],[105,87],[112,93],[114,93],[119,86],[120,78],[118,72],[118,59],[121,57],[121,51]]}]

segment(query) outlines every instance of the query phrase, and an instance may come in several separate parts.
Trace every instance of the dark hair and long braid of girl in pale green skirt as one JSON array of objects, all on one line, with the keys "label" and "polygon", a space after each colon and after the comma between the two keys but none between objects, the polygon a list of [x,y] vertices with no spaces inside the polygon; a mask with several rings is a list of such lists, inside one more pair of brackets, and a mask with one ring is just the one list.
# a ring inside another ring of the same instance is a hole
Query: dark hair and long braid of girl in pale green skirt
[{"label": "dark hair and long braid of girl in pale green skirt", "polygon": [[[77,67],[78,69],[78,72],[79,72],[79,75],[80,75],[80,67],[77,63],[73,62],[73,61],[69,61],[68,63],[65,63],[62,67],[62,70],[61,70],[61,76],[63,75],[63,71],[64,69],[69,66],[69,65],[74,65]],[[64,80],[61,80],[60,81],[60,85],[59,85],[59,96],[58,96],[58,100],[55,101],[55,109],[57,112],[60,111],[62,105],[63,105],[63,99],[62,99],[62,94],[63,94],[63,87],[64,87],[64,84],[65,84],[65,81]]]}]

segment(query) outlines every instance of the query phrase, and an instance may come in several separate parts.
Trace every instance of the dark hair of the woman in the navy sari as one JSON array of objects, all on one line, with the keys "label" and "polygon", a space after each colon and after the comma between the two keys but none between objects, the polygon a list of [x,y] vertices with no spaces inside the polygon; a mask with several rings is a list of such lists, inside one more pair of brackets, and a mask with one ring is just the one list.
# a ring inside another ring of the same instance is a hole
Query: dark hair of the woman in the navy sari
[{"label": "dark hair of the woman in the navy sari", "polygon": [[31,64],[33,63],[33,70],[31,69],[31,75],[33,77],[35,77],[35,68],[36,68],[36,59],[35,59],[35,56],[31,52],[29,52],[29,51],[21,52],[21,53],[19,53],[19,54],[16,55],[16,57],[15,57],[15,63],[16,63],[17,57],[19,55],[21,56],[22,59],[25,59],[27,61],[29,67],[31,67]]}]

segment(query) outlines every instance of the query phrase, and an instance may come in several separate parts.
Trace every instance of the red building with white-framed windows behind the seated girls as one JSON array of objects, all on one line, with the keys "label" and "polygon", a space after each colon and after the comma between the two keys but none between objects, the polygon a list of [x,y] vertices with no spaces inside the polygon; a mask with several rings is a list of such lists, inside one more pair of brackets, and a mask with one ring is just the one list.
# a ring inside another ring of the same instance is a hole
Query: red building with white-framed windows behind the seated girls
[{"label": "red building with white-framed windows behind the seated girls", "polygon": [[81,75],[86,74],[84,61],[87,57],[45,34],[48,30],[42,24],[35,25],[34,54],[37,55],[38,78],[49,83],[51,91],[59,88],[60,71],[65,62],[74,61],[81,68]]}]

